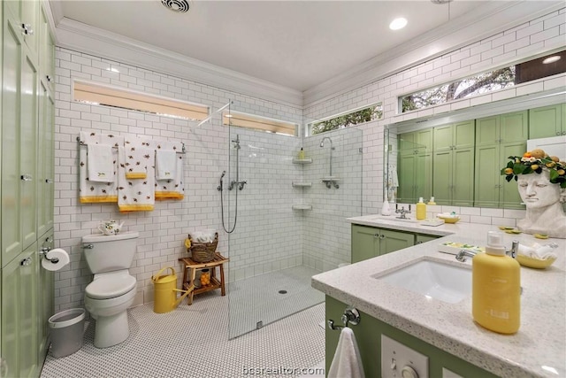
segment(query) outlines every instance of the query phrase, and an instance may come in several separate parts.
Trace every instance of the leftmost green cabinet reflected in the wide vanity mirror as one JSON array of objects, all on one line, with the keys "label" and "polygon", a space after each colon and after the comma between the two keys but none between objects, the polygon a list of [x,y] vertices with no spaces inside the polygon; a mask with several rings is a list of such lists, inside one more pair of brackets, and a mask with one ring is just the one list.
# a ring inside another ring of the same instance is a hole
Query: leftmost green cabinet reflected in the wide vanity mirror
[{"label": "leftmost green cabinet reflected in the wide vanity mirror", "polygon": [[417,203],[432,196],[432,130],[399,135],[397,201]]}]

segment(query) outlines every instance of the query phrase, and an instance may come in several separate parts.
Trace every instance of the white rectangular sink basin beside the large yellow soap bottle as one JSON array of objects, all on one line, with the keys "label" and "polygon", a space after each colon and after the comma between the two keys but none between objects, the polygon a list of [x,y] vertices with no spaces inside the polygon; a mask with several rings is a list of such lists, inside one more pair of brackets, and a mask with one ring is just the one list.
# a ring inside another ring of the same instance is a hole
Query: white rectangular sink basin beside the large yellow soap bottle
[{"label": "white rectangular sink basin beside the large yellow soap bottle", "polygon": [[447,303],[458,303],[471,295],[471,269],[432,260],[420,260],[374,278]]}]

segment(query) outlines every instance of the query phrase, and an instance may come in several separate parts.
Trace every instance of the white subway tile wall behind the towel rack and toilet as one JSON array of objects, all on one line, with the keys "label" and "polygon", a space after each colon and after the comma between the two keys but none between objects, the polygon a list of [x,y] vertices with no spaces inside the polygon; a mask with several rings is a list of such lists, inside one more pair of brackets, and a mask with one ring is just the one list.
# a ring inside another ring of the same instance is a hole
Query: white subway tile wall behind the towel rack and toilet
[{"label": "white subway tile wall behind the towel rack and toilet", "polygon": [[[173,266],[178,277],[182,276],[178,258],[186,256],[183,240],[187,233],[199,229],[217,229],[220,235],[218,250],[226,253],[228,235],[221,231],[220,197],[218,180],[223,170],[229,171],[225,178],[233,179],[233,150],[228,150],[228,142],[235,137],[234,129],[220,126],[220,116],[201,127],[196,122],[175,120],[167,117],[112,109],[97,105],[73,102],[72,81],[74,78],[108,83],[113,86],[134,89],[159,96],[206,104],[212,110],[237,99],[235,111],[249,112],[264,117],[290,120],[302,123],[302,110],[287,105],[274,104],[249,96],[211,88],[194,81],[187,81],[142,68],[123,65],[103,58],[81,54],[73,50],[57,48],[57,93],[56,93],[56,186],[55,186],[55,238],[57,246],[70,253],[71,264],[56,274],[56,311],[82,305],[84,289],[92,275],[82,257],[80,237],[97,233],[96,226],[101,220],[117,219],[125,221],[126,230],[139,231],[140,239],[130,270],[138,282],[138,295],[135,304],[153,300],[151,275],[164,266]],[[111,72],[115,68],[119,73]],[[95,130],[115,135],[136,135],[152,139],[180,140],[187,147],[185,159],[185,199],[157,203],[155,211],[121,214],[116,204],[80,204],[78,200],[78,144],[76,137],[81,130]],[[229,135],[230,133],[230,135]],[[288,253],[288,240],[274,238],[271,230],[250,228],[247,220],[257,224],[270,223],[272,228],[286,229],[296,235],[297,219],[286,205],[288,212],[277,221],[262,222],[262,212],[272,209],[262,208],[265,204],[280,201],[286,196],[298,196],[286,187],[281,195],[275,185],[268,189],[258,189],[257,181],[262,181],[266,171],[280,173],[278,180],[285,180],[284,172],[290,177],[294,166],[290,164],[290,151],[296,147],[298,138],[266,133],[241,132],[241,158],[248,161],[249,167],[241,170],[241,180],[249,184],[239,193],[239,225],[233,237],[235,245],[255,245],[256,250],[246,249],[242,254],[231,250],[233,261],[229,269],[230,280],[249,274],[268,270],[264,262],[277,261],[274,267],[302,264],[299,251]],[[229,153],[230,160],[229,160]],[[261,163],[261,164],[260,164]],[[229,164],[231,169],[228,168]],[[263,164],[263,165],[262,165]],[[290,180],[290,179],[289,179]],[[290,181],[289,181],[290,182]],[[227,201],[233,192],[225,194]],[[293,200],[287,198],[287,202]],[[226,203],[226,223],[233,224],[233,212]],[[282,205],[281,205],[282,208]],[[242,210],[244,209],[244,210]],[[257,210],[256,216],[252,211]],[[229,220],[229,218],[231,220]],[[245,231],[245,232],[244,232]],[[279,246],[274,247],[275,244]],[[260,245],[263,248],[260,248]],[[286,248],[284,248],[285,246]],[[260,250],[260,253],[256,251]],[[273,254],[276,254],[274,257]],[[247,269],[244,269],[247,266]],[[251,268],[250,268],[251,267]],[[272,266],[271,266],[272,267]],[[250,271],[251,269],[251,271]]]}]

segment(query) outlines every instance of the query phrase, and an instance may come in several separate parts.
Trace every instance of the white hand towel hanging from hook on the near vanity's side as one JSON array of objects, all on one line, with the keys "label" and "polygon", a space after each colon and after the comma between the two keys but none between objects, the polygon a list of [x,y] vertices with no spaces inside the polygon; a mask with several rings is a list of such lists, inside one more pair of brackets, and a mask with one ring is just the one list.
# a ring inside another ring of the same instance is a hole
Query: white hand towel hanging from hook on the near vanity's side
[{"label": "white hand towel hanging from hook on the near vanity's side", "polygon": [[365,378],[363,373],[362,358],[356,343],[354,332],[348,328],[342,328],[340,339],[334,353],[333,362],[328,371],[328,378]]}]

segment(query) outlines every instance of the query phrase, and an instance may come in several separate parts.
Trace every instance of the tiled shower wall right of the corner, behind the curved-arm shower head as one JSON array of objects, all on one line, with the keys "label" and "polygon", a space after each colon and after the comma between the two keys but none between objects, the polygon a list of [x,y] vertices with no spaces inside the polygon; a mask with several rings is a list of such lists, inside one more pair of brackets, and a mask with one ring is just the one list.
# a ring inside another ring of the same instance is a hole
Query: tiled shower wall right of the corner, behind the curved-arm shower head
[{"label": "tiled shower wall right of the corner, behind the curved-arm shower head", "polygon": [[[326,137],[323,147],[321,140]],[[305,154],[312,164],[304,166],[303,180],[312,187],[303,190],[303,201],[312,211],[303,211],[303,264],[318,271],[350,262],[349,217],[362,215],[362,130],[343,128],[305,139]],[[321,181],[330,175],[330,152],[333,173],[339,188],[327,188]]]}]

